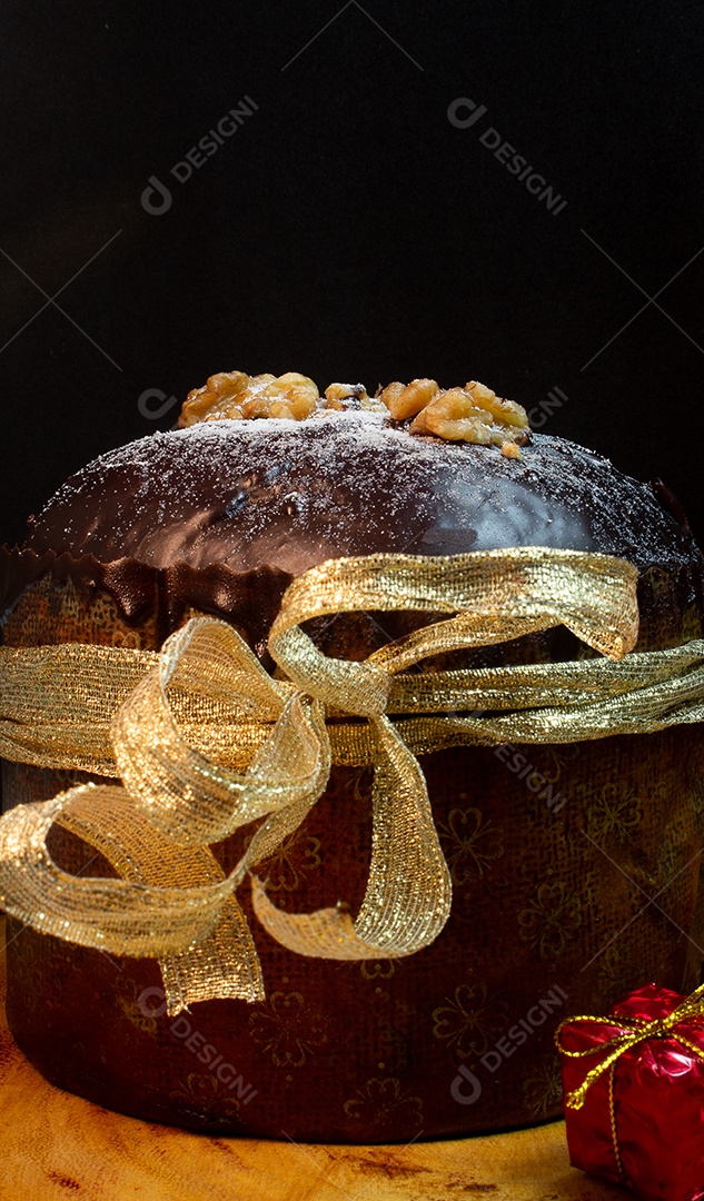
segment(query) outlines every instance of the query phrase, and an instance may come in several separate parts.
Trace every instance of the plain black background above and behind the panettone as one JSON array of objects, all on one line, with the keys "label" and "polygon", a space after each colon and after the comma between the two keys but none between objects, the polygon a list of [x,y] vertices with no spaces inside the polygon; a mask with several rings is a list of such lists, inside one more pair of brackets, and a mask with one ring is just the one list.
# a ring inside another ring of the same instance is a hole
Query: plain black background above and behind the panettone
[{"label": "plain black background above and behind the panettone", "polygon": [[[173,424],[147,389],[237,368],[475,377],[529,408],[557,387],[543,430],[663,476],[702,538],[699,5],[6,0],[0,29],[0,537]],[[487,107],[471,129],[459,96]]]}]

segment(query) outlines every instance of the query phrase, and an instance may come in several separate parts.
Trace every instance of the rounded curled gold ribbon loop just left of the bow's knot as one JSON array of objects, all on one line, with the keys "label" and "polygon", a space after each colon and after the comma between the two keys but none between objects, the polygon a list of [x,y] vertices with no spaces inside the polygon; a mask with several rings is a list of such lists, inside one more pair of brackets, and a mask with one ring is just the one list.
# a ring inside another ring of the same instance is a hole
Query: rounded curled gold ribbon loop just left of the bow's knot
[{"label": "rounded curled gold ribbon loop just left of the bow's knot", "polygon": [[[239,713],[245,723],[262,715],[275,721],[268,751],[245,775],[217,767],[179,734],[169,681],[221,711]],[[286,695],[291,686],[267,675],[237,631],[223,621],[192,619],[165,643],[159,667],[137,685],[113,723],[115,761],[137,808],[173,842],[191,847],[226,838],[299,796],[320,795],[320,763],[305,722],[293,721]]]}]

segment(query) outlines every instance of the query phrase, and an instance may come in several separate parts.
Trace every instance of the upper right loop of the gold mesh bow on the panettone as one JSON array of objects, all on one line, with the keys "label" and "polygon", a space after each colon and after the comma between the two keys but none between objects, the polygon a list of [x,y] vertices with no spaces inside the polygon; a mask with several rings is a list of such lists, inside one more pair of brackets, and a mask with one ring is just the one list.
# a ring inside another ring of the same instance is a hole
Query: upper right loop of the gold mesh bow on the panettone
[{"label": "upper right loop of the gold mesh bow on the panettone", "polygon": [[[434,558],[381,554],[335,558],[310,568],[288,586],[272,626],[269,650],[279,662],[282,634],[310,617],[359,609],[414,609],[461,617],[419,631],[400,644],[416,647],[411,662],[438,650],[515,638],[518,633],[507,633],[512,620],[521,633],[563,623],[602,655],[622,658],[638,637],[637,579],[637,568],[624,558],[547,546]],[[382,649],[368,662],[402,657],[398,645]]]}]

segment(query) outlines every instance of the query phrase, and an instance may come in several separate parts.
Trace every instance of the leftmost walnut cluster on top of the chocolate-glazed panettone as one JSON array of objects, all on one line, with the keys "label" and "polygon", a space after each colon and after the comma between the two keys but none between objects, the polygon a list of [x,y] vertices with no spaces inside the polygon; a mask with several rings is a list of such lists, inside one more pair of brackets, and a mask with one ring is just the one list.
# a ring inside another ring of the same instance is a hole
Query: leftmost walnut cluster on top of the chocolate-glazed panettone
[{"label": "leftmost walnut cluster on top of the chocolate-glazed panettone", "polygon": [[220,371],[203,388],[193,388],[181,408],[179,425],[280,417],[302,422],[317,407],[320,393],[308,376],[287,371],[282,376],[247,376],[243,371]]}]

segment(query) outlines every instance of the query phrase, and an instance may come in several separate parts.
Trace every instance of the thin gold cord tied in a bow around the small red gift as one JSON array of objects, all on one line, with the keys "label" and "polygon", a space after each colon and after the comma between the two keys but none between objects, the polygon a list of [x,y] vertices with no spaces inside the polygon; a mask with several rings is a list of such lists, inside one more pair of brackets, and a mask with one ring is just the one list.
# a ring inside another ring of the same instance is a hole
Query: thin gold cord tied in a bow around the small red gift
[{"label": "thin gold cord tied in a bow around the small red gift", "polygon": [[[611,1127],[611,1141],[614,1147],[614,1155],[616,1158],[616,1164],[619,1167],[619,1173],[622,1179],[625,1179],[624,1163],[621,1158],[621,1147],[619,1143],[619,1134],[616,1128],[616,1115],[614,1107],[614,1071],[615,1066],[626,1051],[631,1047],[638,1046],[639,1042],[645,1042],[646,1039],[675,1039],[681,1046],[686,1047],[692,1054],[696,1054],[699,1059],[704,1059],[704,1048],[698,1047],[696,1042],[692,1042],[684,1034],[675,1029],[676,1026],[686,1022],[687,1018],[702,1017],[704,1014],[704,985],[700,985],[694,992],[690,993],[685,1000],[673,1009],[672,1014],[667,1014],[666,1017],[654,1017],[650,1021],[643,1017],[622,1017],[621,1015],[614,1015],[614,1017],[593,1017],[587,1014],[580,1014],[577,1017],[566,1017],[563,1022],[555,1030],[555,1046],[561,1054],[567,1056],[569,1059],[585,1059],[591,1054],[607,1051],[608,1054],[604,1059],[587,1071],[584,1081],[579,1088],[574,1088],[571,1093],[565,1097],[565,1105],[571,1110],[580,1110],[586,1099],[586,1094],[591,1086],[603,1075],[604,1071],[609,1072],[609,1119]],[[607,1039],[604,1042],[597,1042],[592,1047],[585,1047],[583,1051],[567,1051],[562,1046],[562,1030],[566,1026],[573,1026],[575,1022],[596,1022],[601,1026],[616,1026],[619,1027],[619,1034],[613,1038]]]}]

